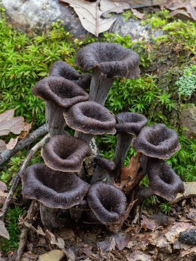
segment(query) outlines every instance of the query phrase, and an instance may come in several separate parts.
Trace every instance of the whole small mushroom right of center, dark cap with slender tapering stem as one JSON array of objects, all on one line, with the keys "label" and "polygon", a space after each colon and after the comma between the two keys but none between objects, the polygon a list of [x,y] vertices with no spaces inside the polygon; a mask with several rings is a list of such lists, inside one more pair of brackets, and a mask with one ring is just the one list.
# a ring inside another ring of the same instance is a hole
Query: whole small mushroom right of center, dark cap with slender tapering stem
[{"label": "whole small mushroom right of center, dark cap with slender tapering stem", "polygon": [[119,113],[116,115],[116,133],[118,133],[117,145],[113,162],[116,168],[113,170],[114,179],[118,179],[127,152],[131,146],[133,135],[138,135],[146,126],[147,119],[139,113]]}]

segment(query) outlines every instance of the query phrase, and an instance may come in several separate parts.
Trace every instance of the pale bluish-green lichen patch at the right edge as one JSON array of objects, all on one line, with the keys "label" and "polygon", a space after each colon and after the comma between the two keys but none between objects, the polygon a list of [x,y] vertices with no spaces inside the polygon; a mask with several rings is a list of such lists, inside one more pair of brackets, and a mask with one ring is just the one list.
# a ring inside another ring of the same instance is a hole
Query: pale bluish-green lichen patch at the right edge
[{"label": "pale bluish-green lichen patch at the right edge", "polygon": [[184,69],[182,76],[176,82],[179,98],[190,98],[196,90],[196,65]]}]

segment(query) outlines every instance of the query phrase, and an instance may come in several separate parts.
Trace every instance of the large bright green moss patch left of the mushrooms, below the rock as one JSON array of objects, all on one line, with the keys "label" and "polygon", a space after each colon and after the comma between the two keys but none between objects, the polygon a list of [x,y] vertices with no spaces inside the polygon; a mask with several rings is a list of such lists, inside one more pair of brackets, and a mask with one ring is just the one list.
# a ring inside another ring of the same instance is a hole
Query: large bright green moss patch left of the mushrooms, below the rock
[{"label": "large bright green moss patch left of the mushrooms, below the rock", "polygon": [[49,34],[30,39],[6,25],[3,11],[0,20],[0,113],[15,109],[32,121],[35,111],[35,126],[45,122],[45,102],[32,95],[32,87],[47,76],[56,60],[72,60],[75,49],[70,43],[70,34],[63,30],[61,22],[54,23]]}]

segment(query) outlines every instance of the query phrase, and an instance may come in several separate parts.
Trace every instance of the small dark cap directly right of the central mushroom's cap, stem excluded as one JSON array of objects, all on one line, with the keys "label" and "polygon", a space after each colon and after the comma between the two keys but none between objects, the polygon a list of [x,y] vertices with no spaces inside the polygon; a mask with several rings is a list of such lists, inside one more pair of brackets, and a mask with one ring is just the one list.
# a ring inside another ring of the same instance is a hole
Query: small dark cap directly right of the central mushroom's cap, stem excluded
[{"label": "small dark cap directly right of the central mushroom's cap, stem excluded", "polygon": [[147,121],[146,117],[139,113],[119,113],[116,115],[116,132],[137,135]]}]

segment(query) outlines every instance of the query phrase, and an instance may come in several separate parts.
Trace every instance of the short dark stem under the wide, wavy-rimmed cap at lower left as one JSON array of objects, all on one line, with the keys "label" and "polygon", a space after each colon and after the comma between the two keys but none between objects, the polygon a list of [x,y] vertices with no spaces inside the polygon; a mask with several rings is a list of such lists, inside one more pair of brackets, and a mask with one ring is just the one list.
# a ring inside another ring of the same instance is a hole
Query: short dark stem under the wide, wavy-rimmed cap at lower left
[{"label": "short dark stem under the wide, wavy-rimmed cap at lower left", "polygon": [[41,222],[45,227],[59,227],[59,223],[56,220],[56,212],[58,212],[58,209],[46,207],[43,203],[40,203],[39,209]]}]

